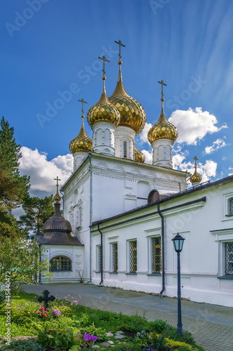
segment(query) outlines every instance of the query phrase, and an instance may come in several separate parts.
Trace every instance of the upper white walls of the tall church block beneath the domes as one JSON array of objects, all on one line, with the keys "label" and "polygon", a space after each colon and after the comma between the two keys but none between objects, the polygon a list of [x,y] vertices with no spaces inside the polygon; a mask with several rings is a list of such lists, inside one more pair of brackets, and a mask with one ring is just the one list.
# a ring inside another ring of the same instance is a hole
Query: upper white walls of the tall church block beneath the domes
[{"label": "upper white walls of the tall church block beneath the domes", "polygon": [[87,157],[64,186],[63,197],[63,216],[71,223],[72,234],[85,245],[85,280],[90,279],[90,216],[92,222],[115,216],[147,204],[152,189],[178,192],[186,186],[185,173],[99,154],[91,155],[90,164]]}]

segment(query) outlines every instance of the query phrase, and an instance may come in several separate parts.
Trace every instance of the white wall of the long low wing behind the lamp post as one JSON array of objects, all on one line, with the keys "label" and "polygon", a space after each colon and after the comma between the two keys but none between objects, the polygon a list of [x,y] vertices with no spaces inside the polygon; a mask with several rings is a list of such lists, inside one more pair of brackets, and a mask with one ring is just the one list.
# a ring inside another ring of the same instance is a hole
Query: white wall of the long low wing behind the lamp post
[{"label": "white wall of the long low wing behind the lamp post", "polygon": [[[233,307],[233,279],[219,279],[225,270],[225,243],[233,242],[233,217],[226,217],[227,199],[233,197],[233,184],[225,184],[195,192],[161,204],[161,209],[178,206],[188,201],[206,197],[185,207],[164,211],[165,222],[165,296],[177,295],[177,254],[171,241],[177,234],[185,238],[181,252],[181,295],[197,302],[213,303]],[[222,208],[225,204],[225,213]],[[139,218],[155,212],[156,206],[113,219],[100,225],[104,242],[104,285],[123,289],[160,293],[162,276],[148,275],[150,270],[150,239],[161,235],[161,218],[157,214]],[[129,218],[134,220],[121,223]],[[115,225],[104,229],[105,226]],[[119,224],[118,224],[119,223]],[[95,228],[97,229],[97,228]],[[137,241],[137,271],[129,272],[129,241]],[[118,243],[118,273],[111,273],[111,244]],[[97,246],[100,234],[92,235],[93,274],[92,282],[99,284]]]}]

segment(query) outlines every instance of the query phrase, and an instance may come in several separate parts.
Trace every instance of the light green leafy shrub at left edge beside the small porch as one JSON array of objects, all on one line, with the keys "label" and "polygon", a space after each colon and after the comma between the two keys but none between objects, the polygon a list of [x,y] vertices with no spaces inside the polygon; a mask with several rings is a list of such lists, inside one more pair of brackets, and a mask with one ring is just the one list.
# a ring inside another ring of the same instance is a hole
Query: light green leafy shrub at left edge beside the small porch
[{"label": "light green leafy shrub at left edge beside the small porch", "polygon": [[17,293],[23,283],[35,284],[40,272],[43,277],[52,277],[48,260],[43,258],[44,250],[36,240],[0,235],[0,246],[0,284],[6,284],[7,278],[12,294]]}]

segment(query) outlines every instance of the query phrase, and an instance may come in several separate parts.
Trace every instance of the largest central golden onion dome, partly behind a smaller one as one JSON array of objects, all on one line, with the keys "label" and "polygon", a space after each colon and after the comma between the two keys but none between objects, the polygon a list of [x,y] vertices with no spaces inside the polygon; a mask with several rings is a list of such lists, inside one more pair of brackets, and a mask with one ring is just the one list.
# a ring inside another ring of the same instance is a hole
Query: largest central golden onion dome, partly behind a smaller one
[{"label": "largest central golden onion dome, partly behind a smaller one", "polygon": [[119,60],[119,76],[118,83],[113,91],[112,95],[108,100],[113,104],[120,112],[120,124],[119,126],[127,126],[134,129],[136,135],[139,134],[146,124],[146,112],[141,104],[129,96],[125,91],[122,82],[121,64]]}]

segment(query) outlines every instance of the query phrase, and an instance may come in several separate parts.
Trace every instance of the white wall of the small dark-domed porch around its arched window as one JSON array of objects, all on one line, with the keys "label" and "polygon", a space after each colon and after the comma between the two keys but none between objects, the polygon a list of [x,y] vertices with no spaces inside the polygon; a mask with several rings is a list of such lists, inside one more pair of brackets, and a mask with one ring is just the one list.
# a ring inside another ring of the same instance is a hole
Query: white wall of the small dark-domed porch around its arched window
[{"label": "white wall of the small dark-domed porch around its arched window", "polygon": [[55,256],[66,256],[72,262],[72,270],[64,272],[53,272],[54,276],[52,279],[45,279],[41,277],[42,284],[48,283],[78,283],[80,282],[80,276],[82,277],[84,269],[84,247],[83,246],[71,246],[71,245],[41,245],[41,248],[45,248],[45,254],[42,258],[47,258],[48,262]]}]

